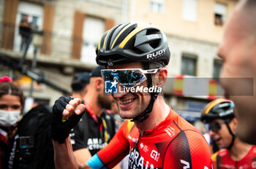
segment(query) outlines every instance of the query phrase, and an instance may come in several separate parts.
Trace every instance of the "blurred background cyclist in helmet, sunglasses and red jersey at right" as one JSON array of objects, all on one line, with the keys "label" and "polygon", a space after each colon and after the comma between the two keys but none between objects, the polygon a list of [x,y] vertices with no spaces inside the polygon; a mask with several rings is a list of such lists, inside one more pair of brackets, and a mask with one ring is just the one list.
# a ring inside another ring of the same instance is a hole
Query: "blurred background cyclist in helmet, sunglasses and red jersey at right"
[{"label": "blurred background cyclist in helmet, sunglasses and red jersey at right", "polygon": [[208,123],[209,134],[217,143],[218,152],[212,155],[214,168],[256,168],[256,146],[236,137],[237,119],[233,101],[218,98],[203,109],[201,119]]}]

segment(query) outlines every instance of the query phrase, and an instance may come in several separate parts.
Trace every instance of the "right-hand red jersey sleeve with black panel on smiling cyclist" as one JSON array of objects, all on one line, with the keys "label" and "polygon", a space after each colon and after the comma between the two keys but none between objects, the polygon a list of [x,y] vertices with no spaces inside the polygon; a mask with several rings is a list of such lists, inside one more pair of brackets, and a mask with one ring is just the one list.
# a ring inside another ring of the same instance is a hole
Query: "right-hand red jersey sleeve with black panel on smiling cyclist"
[{"label": "right-hand red jersey sleeve with black panel on smiling cyclist", "polygon": [[203,135],[182,130],[167,146],[163,168],[211,168],[211,151]]}]

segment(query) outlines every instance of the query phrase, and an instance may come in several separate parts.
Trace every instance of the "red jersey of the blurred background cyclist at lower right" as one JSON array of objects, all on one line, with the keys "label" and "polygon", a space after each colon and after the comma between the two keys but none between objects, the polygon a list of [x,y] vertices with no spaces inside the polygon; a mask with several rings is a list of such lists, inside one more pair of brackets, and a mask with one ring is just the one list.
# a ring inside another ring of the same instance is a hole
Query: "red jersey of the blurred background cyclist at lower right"
[{"label": "red jersey of the blurred background cyclist at lower right", "polygon": [[256,146],[252,146],[246,156],[238,161],[231,159],[227,149],[219,150],[211,158],[214,169],[256,168]]}]

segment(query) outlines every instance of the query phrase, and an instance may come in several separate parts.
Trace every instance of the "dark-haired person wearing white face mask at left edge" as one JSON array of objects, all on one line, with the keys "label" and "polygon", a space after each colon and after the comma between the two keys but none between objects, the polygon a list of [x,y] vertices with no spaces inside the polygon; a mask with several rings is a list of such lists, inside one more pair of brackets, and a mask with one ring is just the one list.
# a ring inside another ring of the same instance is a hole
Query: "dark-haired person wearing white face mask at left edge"
[{"label": "dark-haired person wearing white face mask at left edge", "polygon": [[23,91],[7,76],[0,79],[0,168],[8,167],[8,160],[22,118]]}]

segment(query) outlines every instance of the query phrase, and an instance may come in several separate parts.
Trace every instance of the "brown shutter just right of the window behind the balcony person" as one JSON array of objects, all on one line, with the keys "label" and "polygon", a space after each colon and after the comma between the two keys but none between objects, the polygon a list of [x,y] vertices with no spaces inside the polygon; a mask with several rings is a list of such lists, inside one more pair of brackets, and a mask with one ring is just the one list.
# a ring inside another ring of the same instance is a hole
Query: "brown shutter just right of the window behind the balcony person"
[{"label": "brown shutter just right of the window behind the balcony person", "polygon": [[45,55],[50,55],[51,52],[54,9],[55,7],[51,4],[45,4],[44,6],[44,18],[42,24],[42,30],[44,35],[42,37],[41,53]]}]

